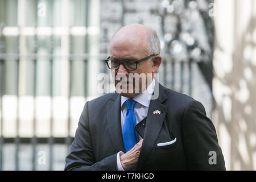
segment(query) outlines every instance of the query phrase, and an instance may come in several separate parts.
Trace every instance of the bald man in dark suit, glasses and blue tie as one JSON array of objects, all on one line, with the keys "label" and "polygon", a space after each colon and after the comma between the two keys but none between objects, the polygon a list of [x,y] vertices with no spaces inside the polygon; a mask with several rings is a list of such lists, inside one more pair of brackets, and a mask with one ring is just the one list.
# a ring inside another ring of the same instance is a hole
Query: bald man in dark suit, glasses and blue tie
[{"label": "bald man in dark suit, glasses and blue tie", "polygon": [[[116,92],[86,102],[65,170],[225,170],[204,106],[154,79],[159,54],[159,38],[146,26],[129,24],[115,33],[106,63]],[[146,82],[129,77],[135,73]],[[134,125],[144,118],[138,135]]]}]

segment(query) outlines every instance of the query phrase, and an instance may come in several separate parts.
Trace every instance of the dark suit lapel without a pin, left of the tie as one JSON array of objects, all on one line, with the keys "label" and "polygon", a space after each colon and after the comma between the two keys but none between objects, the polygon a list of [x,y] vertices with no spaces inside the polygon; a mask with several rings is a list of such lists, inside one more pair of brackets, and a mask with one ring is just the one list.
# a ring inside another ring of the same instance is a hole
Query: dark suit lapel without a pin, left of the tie
[{"label": "dark suit lapel without a pin, left of the tie", "polygon": [[114,93],[106,109],[108,130],[113,146],[117,152],[124,152],[121,130],[121,96]]}]

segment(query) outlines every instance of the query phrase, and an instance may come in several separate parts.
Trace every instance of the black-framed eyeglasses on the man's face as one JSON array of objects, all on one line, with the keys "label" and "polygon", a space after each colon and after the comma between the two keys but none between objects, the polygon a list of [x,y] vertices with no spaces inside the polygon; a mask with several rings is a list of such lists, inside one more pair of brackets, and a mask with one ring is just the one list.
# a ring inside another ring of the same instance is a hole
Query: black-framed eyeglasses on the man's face
[{"label": "black-framed eyeglasses on the man's face", "polygon": [[146,60],[150,59],[153,56],[157,56],[157,55],[153,54],[153,55],[147,56],[147,57],[145,57],[143,59],[140,59],[140,60],[129,60],[129,59],[126,59],[126,60],[123,60],[123,61],[119,61],[119,60],[116,60],[116,59],[110,59],[110,56],[109,56],[105,60],[105,62],[108,65],[109,69],[118,70],[120,64],[122,64],[123,67],[125,67],[125,69],[127,69],[129,71],[133,71],[133,70],[137,69],[138,63],[141,63],[142,61],[146,61]]}]

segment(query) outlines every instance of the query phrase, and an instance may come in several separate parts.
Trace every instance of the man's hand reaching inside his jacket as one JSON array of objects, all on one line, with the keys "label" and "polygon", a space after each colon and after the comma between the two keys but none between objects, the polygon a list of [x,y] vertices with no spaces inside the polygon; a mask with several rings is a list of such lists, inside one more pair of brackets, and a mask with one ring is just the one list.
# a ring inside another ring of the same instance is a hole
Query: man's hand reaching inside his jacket
[{"label": "man's hand reaching inside his jacket", "polygon": [[120,156],[120,162],[123,169],[130,170],[137,166],[139,154],[141,153],[143,139],[141,139],[131,150]]}]

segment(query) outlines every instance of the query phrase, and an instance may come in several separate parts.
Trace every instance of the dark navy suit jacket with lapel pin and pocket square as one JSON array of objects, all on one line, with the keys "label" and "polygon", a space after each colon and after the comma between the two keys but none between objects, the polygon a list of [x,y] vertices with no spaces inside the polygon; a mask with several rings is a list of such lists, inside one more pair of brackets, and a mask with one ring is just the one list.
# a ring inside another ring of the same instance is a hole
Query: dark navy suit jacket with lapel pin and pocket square
[{"label": "dark navy suit jacket with lapel pin and pocket square", "polygon": [[[160,114],[153,114],[155,110]],[[157,145],[175,138],[176,142],[170,145]],[[125,151],[121,96],[110,93],[86,102],[65,170],[117,170],[119,151]],[[225,170],[216,130],[204,106],[159,84],[159,97],[151,100],[148,108],[136,169]]]}]

